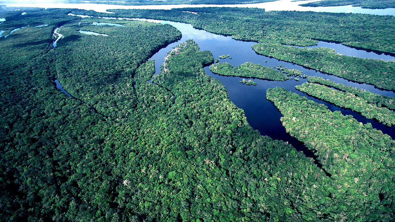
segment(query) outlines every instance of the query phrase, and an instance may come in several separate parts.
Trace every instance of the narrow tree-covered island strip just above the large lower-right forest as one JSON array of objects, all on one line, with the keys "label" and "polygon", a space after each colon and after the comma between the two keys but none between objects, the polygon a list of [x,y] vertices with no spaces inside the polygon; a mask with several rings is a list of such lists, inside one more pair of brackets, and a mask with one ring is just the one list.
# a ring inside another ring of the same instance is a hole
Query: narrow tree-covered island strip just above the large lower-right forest
[{"label": "narrow tree-covered island strip just above the large lower-right forest", "polygon": [[393,111],[368,103],[351,92],[339,91],[317,83],[303,83],[295,86],[295,88],[337,106],[352,109],[368,119],[376,119],[387,126],[395,125],[395,113]]}]

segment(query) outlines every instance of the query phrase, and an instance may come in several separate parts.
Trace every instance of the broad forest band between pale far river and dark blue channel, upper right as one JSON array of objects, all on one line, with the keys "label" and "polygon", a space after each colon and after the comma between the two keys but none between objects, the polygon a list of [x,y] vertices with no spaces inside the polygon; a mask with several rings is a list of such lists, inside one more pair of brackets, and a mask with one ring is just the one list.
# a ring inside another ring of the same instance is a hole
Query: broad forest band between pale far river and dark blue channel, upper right
[{"label": "broad forest band between pale far river and dark blue channel, upper right", "polygon": [[[232,35],[232,38],[265,43],[310,46],[316,40],[395,53],[393,16],[265,11],[258,8],[180,8],[173,10],[112,9],[111,16],[166,19],[192,23],[195,28]],[[191,11],[198,15],[183,11]],[[87,14],[75,10],[74,14]],[[87,15],[109,16],[90,11]]]}]

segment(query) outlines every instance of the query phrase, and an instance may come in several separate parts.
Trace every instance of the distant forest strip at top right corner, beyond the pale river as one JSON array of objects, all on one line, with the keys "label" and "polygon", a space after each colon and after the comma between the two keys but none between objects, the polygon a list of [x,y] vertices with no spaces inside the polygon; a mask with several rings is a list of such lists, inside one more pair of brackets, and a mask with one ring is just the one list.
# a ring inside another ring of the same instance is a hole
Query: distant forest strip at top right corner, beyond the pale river
[{"label": "distant forest strip at top right corner, beyond the pale river", "polygon": [[321,7],[321,6],[361,6],[362,8],[384,9],[395,8],[394,0],[322,0],[300,4],[299,6]]}]

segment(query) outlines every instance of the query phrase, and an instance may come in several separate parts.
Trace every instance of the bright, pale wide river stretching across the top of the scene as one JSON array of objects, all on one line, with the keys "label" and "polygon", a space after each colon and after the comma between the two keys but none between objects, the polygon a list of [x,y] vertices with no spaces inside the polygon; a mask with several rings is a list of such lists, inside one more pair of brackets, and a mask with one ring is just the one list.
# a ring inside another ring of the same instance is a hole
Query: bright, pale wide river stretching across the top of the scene
[{"label": "bright, pale wide river stretching across the top of the scene", "polygon": [[343,13],[364,13],[373,15],[395,15],[395,9],[363,9],[352,6],[333,6],[333,7],[303,7],[302,3],[314,2],[308,0],[303,2],[292,2],[292,0],[279,0],[275,2],[263,2],[256,4],[237,4],[237,5],[153,5],[153,6],[120,6],[107,4],[66,4],[66,3],[37,3],[37,4],[6,4],[11,7],[39,7],[39,8],[77,8],[107,12],[108,9],[172,9],[185,7],[239,7],[239,8],[264,8],[267,11],[317,11],[317,12],[343,12]]}]

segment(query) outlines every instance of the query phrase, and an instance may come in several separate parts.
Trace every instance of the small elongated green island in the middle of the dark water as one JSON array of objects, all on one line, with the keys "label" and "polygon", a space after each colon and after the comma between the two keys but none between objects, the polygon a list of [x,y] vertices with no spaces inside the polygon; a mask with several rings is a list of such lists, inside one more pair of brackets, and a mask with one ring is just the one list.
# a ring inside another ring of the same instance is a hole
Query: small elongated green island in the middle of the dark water
[{"label": "small elongated green island in the middle of the dark water", "polygon": [[288,79],[283,73],[269,67],[261,66],[251,62],[245,62],[233,68],[228,62],[217,63],[210,66],[213,73],[219,75],[232,75],[246,78],[269,79],[275,81],[285,81]]}]

